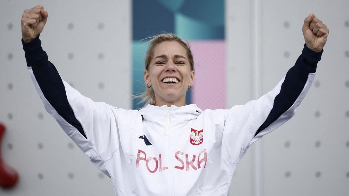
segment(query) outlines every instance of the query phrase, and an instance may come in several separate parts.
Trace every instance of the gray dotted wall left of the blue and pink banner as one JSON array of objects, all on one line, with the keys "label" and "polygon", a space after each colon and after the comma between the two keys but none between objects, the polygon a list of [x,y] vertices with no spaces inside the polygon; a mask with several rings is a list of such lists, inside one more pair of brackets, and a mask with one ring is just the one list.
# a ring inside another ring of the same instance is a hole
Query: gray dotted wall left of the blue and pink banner
[{"label": "gray dotted wall left of the blue and pink banner", "polygon": [[131,108],[131,2],[1,1],[0,121],[7,127],[1,147],[20,181],[0,195],[114,195],[110,178],[45,111],[32,84],[21,17],[38,4],[49,13],[42,46],[62,78],[94,101]]}]

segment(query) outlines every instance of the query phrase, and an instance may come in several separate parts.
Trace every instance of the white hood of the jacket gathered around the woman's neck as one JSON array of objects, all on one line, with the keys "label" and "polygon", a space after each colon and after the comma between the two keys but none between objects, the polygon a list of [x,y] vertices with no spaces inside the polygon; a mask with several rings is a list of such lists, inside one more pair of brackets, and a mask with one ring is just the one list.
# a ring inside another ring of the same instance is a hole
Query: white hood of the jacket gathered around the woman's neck
[{"label": "white hood of the jacket gathered around the woman's neck", "polygon": [[[149,120],[151,122],[159,123],[161,125],[166,124],[167,111],[168,107],[166,105],[155,106],[150,104],[139,110],[144,119]],[[174,124],[181,124],[185,121],[196,119],[201,114],[201,112],[202,110],[198,108],[196,104],[190,104],[180,107],[171,105],[171,125],[175,126]]]}]

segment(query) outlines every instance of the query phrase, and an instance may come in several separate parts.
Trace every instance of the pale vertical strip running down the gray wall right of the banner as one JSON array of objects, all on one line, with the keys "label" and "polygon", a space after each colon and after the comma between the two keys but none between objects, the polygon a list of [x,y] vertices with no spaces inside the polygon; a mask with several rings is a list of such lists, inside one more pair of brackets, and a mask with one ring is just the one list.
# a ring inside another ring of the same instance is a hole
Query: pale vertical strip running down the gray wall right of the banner
[{"label": "pale vertical strip running down the gray wall right of the banner", "polygon": [[[262,63],[262,2],[261,0],[251,1],[251,51],[252,51],[252,77],[251,77],[251,97],[252,99],[258,99],[261,96],[262,80],[261,80],[261,63]],[[263,184],[262,184],[262,141],[253,144],[252,151],[252,195],[262,196]]]}]

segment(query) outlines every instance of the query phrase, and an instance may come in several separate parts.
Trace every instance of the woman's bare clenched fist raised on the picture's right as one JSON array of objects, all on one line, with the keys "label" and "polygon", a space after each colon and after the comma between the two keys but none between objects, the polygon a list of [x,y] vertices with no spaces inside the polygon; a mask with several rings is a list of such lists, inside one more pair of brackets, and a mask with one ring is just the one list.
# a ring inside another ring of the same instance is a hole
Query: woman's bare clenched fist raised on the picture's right
[{"label": "woman's bare clenched fist raised on the picture's right", "polygon": [[327,41],[329,29],[314,14],[304,20],[302,28],[305,45],[313,51],[321,52]]}]

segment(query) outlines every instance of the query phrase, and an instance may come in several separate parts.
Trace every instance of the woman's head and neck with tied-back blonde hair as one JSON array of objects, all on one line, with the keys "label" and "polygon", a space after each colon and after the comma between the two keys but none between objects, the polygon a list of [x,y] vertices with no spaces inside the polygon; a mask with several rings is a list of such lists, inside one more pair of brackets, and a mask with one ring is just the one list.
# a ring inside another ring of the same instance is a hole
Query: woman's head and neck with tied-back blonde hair
[{"label": "woman's head and neck with tied-back blonde hair", "polygon": [[135,98],[162,106],[184,106],[186,91],[194,83],[194,60],[189,44],[173,33],[151,37],[145,59],[146,90]]}]

